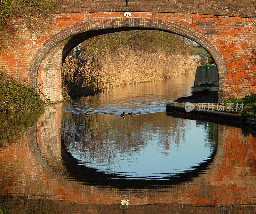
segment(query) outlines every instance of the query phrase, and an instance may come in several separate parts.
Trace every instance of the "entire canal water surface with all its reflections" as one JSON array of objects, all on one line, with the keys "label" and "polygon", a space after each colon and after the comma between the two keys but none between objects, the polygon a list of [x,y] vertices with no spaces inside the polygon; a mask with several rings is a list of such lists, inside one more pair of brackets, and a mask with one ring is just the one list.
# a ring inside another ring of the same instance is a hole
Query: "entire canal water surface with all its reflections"
[{"label": "entire canal water surface with all its reflections", "polygon": [[0,209],[255,212],[255,135],[165,112],[191,94],[193,80],[120,86],[27,121],[1,118]]}]

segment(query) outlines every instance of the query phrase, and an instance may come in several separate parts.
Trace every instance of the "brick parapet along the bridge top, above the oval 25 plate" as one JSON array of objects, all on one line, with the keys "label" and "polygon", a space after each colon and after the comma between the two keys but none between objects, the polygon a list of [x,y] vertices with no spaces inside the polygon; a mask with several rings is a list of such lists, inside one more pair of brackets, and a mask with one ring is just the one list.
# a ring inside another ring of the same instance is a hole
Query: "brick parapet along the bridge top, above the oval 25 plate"
[{"label": "brick parapet along the bridge top, above the oval 25 plate", "polygon": [[78,12],[164,12],[256,18],[254,0],[64,0],[60,13]]}]

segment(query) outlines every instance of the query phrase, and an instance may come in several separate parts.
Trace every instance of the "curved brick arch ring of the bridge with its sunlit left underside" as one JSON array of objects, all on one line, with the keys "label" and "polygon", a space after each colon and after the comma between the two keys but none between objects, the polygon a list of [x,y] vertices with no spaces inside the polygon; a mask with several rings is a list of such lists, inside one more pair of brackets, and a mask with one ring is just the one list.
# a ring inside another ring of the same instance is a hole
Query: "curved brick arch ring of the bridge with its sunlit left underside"
[{"label": "curved brick arch ring of the bridge with its sunlit left underside", "polygon": [[[212,56],[218,69],[218,98],[221,99],[220,92],[223,92],[224,85],[227,80],[227,67],[225,65],[222,54],[215,46],[215,44],[213,44],[212,41],[204,37],[196,30],[184,27],[180,24],[158,19],[118,18],[93,20],[65,28],[64,30],[47,39],[44,44],[42,44],[42,46],[37,50],[29,65],[28,76],[32,76],[31,82],[33,84],[37,84],[39,68],[41,71],[44,69],[44,72],[48,73],[60,72],[62,63],[64,62],[68,53],[77,44],[80,44],[84,40],[93,36],[98,36],[110,32],[134,29],[155,29],[178,34],[180,36],[185,36],[204,47],[204,49],[206,49]],[[60,75],[58,76],[60,78]],[[54,90],[51,92],[53,95],[56,93]],[[55,100],[57,99],[55,98]]]}]

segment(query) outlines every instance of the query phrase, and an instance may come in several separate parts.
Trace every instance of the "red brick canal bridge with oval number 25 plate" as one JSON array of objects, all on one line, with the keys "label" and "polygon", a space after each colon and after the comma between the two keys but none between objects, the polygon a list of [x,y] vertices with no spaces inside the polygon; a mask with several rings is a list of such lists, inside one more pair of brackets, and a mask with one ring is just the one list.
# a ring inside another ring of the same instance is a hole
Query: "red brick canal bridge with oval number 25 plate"
[{"label": "red brick canal bridge with oval number 25 plate", "polygon": [[[124,11],[132,15],[125,18]],[[256,3],[213,1],[63,1],[49,33],[1,50],[0,65],[11,75],[43,83],[60,100],[60,68],[68,52],[92,36],[130,29],[159,29],[186,36],[202,45],[219,71],[219,98],[256,93]],[[15,37],[15,34],[13,35]]]}]

